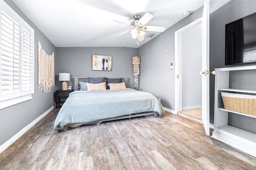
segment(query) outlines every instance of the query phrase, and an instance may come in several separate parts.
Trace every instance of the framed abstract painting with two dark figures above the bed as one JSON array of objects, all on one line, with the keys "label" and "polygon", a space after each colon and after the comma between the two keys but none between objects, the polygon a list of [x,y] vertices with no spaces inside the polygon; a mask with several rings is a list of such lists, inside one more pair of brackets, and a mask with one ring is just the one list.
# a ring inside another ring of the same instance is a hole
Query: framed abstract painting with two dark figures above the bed
[{"label": "framed abstract painting with two dark figures above the bed", "polygon": [[92,70],[112,71],[112,56],[92,55]]}]

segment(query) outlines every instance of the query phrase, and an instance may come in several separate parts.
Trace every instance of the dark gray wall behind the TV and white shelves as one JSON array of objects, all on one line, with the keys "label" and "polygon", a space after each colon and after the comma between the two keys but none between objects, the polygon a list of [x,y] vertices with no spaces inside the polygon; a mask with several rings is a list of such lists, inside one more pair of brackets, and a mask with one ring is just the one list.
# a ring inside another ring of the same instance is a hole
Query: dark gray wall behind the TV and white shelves
[{"label": "dark gray wall behind the TV and white shelves", "polygon": [[[210,15],[210,70],[214,68],[230,67],[225,66],[225,24],[248,16],[256,12],[256,1],[255,0],[232,0],[224,5],[222,8],[216,10]],[[243,64],[243,65],[232,65],[245,66],[245,65],[256,65],[256,63]],[[230,76],[233,79],[230,81],[230,85],[236,86],[237,88],[244,88],[242,84],[253,84],[256,83],[255,72],[252,71],[237,72],[235,75],[232,73]],[[247,79],[243,75],[249,75]],[[240,83],[234,81],[234,76],[239,79]],[[253,78],[254,77],[254,78]],[[248,88],[248,87],[247,87]],[[250,88],[256,89],[251,86]],[[210,122],[214,121],[214,76],[210,76]],[[244,117],[237,114],[229,114],[229,125],[234,127],[242,128],[256,133],[255,119]]]}]

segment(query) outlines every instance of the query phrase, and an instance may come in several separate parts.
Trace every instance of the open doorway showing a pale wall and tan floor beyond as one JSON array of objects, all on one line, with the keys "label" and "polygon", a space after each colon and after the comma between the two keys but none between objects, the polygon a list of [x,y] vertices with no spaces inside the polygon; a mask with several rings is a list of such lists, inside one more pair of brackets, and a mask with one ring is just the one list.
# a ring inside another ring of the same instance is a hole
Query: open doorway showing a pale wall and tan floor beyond
[{"label": "open doorway showing a pale wall and tan floor beyond", "polygon": [[176,113],[202,123],[202,19],[175,32]]}]

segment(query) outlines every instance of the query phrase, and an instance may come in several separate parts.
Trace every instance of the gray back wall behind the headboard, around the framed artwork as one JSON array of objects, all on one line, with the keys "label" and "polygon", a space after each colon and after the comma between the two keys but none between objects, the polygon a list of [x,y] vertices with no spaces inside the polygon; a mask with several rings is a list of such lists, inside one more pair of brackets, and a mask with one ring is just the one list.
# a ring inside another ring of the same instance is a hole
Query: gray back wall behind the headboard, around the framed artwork
[{"label": "gray back wall behind the headboard, around the framed artwork", "polygon": [[[127,88],[134,89],[132,57],[136,49],[130,47],[57,47],[55,77],[58,89],[58,73],[70,73],[68,86],[74,89],[74,77],[127,77]],[[112,71],[92,71],[92,54],[112,56]]]}]

